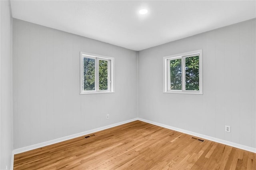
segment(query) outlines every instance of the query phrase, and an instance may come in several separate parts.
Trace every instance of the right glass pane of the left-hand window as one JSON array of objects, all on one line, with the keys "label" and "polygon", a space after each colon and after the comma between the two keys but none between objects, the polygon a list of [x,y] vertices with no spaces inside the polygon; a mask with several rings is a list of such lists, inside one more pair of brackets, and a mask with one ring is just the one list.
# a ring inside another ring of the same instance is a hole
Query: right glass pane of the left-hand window
[{"label": "right glass pane of the left-hand window", "polygon": [[108,90],[108,61],[99,60],[99,90]]}]

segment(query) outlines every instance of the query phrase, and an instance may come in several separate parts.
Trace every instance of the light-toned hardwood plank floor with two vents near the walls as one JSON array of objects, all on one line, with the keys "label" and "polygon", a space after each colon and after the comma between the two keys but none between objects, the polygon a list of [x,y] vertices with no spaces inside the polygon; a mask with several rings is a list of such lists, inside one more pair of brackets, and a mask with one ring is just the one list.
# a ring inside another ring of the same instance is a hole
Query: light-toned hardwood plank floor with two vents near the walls
[{"label": "light-toned hardwood plank floor with two vents near the walls", "polygon": [[94,134],[16,154],[14,169],[256,170],[255,153],[141,121]]}]

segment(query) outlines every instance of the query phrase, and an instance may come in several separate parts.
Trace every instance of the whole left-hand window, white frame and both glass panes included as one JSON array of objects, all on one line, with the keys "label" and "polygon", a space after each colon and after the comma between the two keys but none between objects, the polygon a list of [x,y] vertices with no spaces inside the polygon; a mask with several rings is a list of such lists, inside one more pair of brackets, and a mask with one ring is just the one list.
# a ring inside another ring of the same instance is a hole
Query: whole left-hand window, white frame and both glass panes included
[{"label": "whole left-hand window, white frame and both glass panes included", "polygon": [[114,58],[81,52],[81,93],[114,92]]}]

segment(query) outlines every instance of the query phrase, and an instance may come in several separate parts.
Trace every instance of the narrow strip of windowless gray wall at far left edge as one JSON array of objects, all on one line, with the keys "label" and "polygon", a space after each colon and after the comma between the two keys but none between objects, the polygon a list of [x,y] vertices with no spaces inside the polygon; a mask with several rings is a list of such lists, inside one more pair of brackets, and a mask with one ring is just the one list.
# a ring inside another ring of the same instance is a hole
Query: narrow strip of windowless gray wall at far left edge
[{"label": "narrow strip of windowless gray wall at far left edge", "polygon": [[10,2],[0,1],[0,169],[10,169],[12,139],[12,17]]}]

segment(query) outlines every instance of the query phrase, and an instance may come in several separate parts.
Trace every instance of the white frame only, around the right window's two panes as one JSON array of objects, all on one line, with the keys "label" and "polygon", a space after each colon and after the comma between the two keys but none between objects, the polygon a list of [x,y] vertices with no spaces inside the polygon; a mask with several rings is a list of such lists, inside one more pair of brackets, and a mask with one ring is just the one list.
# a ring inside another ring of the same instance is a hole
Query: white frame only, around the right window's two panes
[{"label": "white frame only, around the right window's two panes", "polygon": [[[185,90],[186,83],[185,83],[185,59],[187,57],[192,57],[194,55],[199,55],[199,90]],[[182,64],[182,90],[170,90],[170,61],[174,59],[181,59]],[[186,53],[180,53],[175,55],[169,55],[163,57],[163,65],[164,65],[164,91],[163,93],[182,93],[182,94],[203,94],[203,79],[202,79],[202,49],[196,51],[190,51]]]}]

